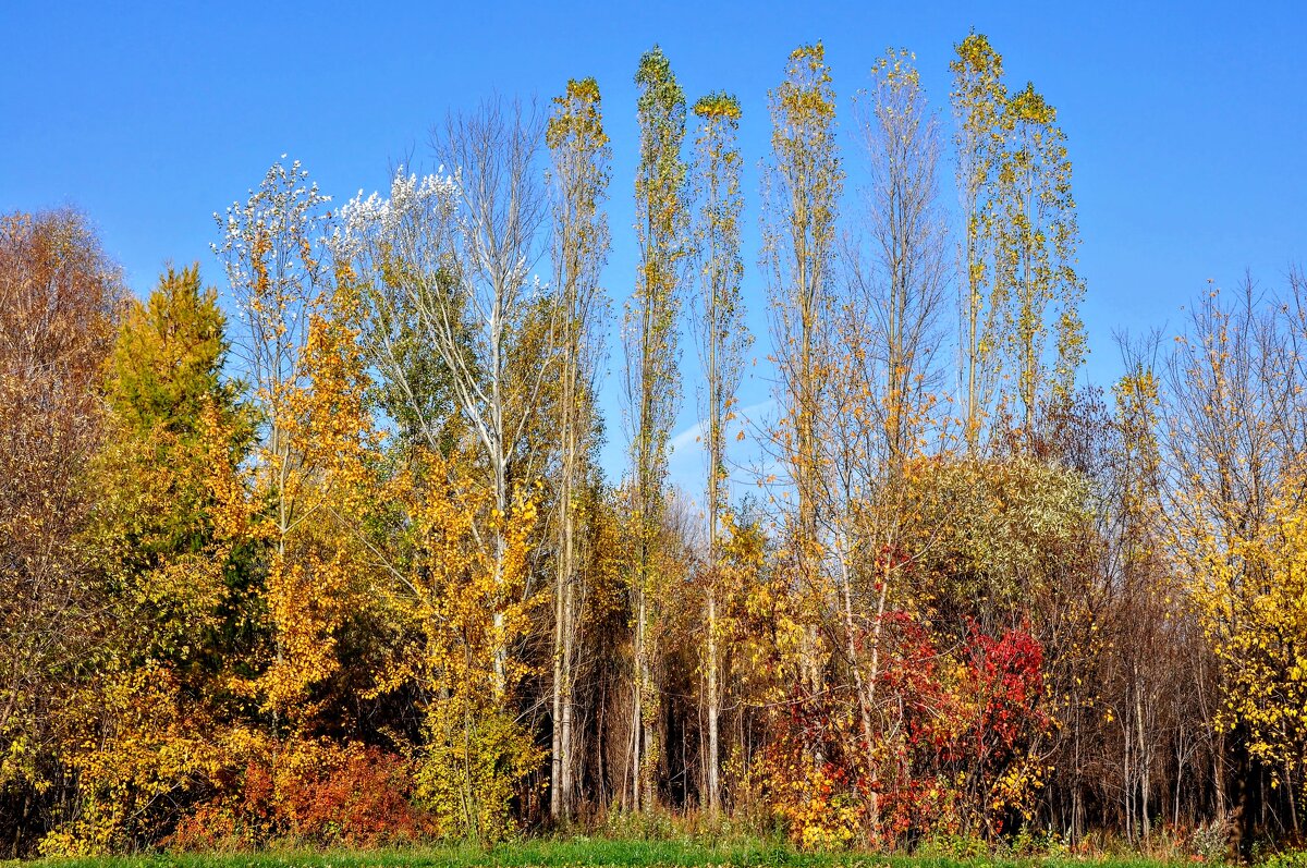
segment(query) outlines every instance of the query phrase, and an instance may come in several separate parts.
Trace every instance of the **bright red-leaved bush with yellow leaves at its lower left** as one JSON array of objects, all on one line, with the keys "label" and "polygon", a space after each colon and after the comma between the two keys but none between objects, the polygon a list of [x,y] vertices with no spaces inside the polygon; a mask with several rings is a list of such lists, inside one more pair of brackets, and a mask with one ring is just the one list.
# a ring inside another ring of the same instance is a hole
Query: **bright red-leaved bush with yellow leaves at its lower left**
[{"label": "bright red-leaved bush with yellow leaves at its lower left", "polygon": [[974,621],[950,642],[891,612],[881,651],[870,752],[852,697],[797,689],[787,707],[767,763],[792,838],[893,846],[1009,829],[1038,790],[1034,748],[1052,723],[1040,642],[1026,629],[992,635]]}]

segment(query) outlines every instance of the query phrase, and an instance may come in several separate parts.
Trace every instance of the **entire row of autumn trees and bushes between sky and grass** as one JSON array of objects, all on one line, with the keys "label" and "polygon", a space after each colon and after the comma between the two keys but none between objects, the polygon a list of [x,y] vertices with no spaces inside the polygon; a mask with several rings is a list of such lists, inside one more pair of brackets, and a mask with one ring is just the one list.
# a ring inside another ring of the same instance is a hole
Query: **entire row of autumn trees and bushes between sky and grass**
[{"label": "entire row of autumn trees and bushes between sky and grass", "polygon": [[[1307,280],[1208,288],[1078,383],[1057,112],[954,48],[949,116],[907,51],[844,103],[796,48],[755,195],[738,99],[644,54],[620,311],[593,78],[451,114],[442,171],[384,196],[276,162],[216,216],[221,290],[133,298],[84,214],[0,216],[0,856],[668,814],[806,850],[1299,843]],[[776,407],[748,431],[746,301]]]}]

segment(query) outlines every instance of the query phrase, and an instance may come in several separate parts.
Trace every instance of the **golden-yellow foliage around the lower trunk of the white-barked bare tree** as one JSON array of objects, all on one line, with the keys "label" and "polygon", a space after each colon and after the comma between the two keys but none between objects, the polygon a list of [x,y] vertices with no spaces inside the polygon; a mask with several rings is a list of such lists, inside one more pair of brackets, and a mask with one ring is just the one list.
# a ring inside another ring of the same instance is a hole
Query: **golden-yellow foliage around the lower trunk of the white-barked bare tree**
[{"label": "golden-yellow foliage around the lower trunk of the white-barked bare tree", "polygon": [[[389,497],[405,515],[409,558],[392,565],[380,593],[403,641],[372,692],[422,697],[416,795],[439,834],[493,841],[510,830],[514,790],[541,758],[505,703],[528,673],[512,648],[535,603],[524,586],[536,498],[519,490],[501,515],[471,461],[429,452],[412,458]],[[494,539],[505,540],[502,558]]]}]

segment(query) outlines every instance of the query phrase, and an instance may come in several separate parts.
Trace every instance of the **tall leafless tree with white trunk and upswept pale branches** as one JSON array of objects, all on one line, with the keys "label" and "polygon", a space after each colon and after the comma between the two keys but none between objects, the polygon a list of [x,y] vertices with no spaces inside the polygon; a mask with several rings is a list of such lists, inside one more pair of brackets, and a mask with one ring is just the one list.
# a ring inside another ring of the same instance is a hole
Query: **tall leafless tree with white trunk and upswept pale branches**
[{"label": "tall leafless tree with white trunk and upswept pale branches", "polygon": [[[532,269],[549,217],[537,175],[542,119],[531,106],[488,102],[452,115],[434,136],[440,162],[457,173],[454,231],[444,252],[452,292],[418,297],[422,329],[450,371],[455,403],[486,461],[493,512],[486,526],[494,582],[506,588],[515,490],[529,492],[541,467],[528,431],[544,410],[544,386],[555,374],[554,340]],[[494,620],[506,626],[506,593]],[[497,702],[508,684],[507,642],[494,651]]]}]

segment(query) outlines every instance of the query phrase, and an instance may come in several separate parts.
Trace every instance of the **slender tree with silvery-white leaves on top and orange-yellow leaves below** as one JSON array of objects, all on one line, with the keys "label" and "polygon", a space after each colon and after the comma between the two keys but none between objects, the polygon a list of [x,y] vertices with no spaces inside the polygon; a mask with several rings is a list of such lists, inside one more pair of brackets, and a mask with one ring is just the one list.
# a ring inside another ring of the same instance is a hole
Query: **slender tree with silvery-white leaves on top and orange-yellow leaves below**
[{"label": "slender tree with silvery-white leaves on top and orange-yellow leaves below", "polygon": [[339,667],[352,570],[337,545],[349,537],[328,528],[349,511],[339,498],[357,498],[370,427],[356,298],[332,269],[327,203],[298,162],[277,162],[244,203],[216,216],[214,252],[244,324],[237,348],[260,421],[254,495],[269,506],[272,652],[246,689],[274,732],[307,724],[308,690]]}]

